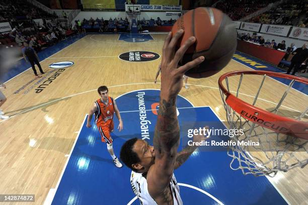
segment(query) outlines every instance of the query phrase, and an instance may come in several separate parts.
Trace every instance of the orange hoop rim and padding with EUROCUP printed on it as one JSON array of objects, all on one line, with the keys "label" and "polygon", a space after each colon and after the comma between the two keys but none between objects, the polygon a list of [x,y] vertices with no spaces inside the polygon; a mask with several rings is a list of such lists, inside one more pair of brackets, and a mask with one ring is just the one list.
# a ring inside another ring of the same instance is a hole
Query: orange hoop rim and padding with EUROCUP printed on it
[{"label": "orange hoop rim and padding with EUROCUP printed on it", "polygon": [[237,98],[228,92],[222,85],[222,81],[231,76],[249,74],[249,75],[267,75],[271,77],[279,77],[297,82],[308,84],[308,80],[287,74],[280,74],[268,71],[235,71],[222,75],[218,80],[220,90],[226,95],[225,102],[232,107],[242,117],[250,120],[260,126],[267,127],[275,132],[288,134],[297,138],[308,140],[308,122],[303,122],[288,117],[280,116],[264,109],[253,106],[245,101]]}]

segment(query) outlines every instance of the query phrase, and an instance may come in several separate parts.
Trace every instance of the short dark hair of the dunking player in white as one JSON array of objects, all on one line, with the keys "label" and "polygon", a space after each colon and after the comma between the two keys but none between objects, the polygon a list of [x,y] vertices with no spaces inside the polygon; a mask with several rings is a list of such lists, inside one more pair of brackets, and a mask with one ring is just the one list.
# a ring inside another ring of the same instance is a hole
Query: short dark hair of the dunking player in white
[{"label": "short dark hair of the dunking player in white", "polygon": [[140,162],[140,159],[132,149],[137,142],[137,138],[130,139],[122,145],[121,152],[120,152],[120,158],[124,164],[129,167],[134,172],[138,171],[132,167],[132,164],[136,164]]}]

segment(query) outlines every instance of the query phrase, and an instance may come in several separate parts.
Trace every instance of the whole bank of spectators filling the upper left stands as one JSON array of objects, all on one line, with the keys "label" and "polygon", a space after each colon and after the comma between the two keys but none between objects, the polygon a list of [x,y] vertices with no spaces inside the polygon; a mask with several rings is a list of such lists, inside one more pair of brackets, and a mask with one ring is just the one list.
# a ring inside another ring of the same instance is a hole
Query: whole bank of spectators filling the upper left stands
[{"label": "whole bank of spectators filling the upper left stands", "polygon": [[[42,11],[26,1],[4,0],[1,2],[0,8],[1,20],[9,22],[12,28],[9,32],[0,33],[0,48],[22,48],[26,42],[38,52],[73,33],[54,19],[50,19],[50,17],[55,17],[54,15]],[[36,23],[32,19],[42,20],[40,23]]]}]

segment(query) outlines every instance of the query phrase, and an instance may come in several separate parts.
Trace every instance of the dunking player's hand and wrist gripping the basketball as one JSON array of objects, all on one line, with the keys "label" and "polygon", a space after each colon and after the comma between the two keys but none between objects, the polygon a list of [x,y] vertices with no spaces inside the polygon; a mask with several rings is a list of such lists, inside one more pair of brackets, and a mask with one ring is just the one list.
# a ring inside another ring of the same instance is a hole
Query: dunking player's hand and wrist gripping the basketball
[{"label": "dunking player's hand and wrist gripping the basketball", "polygon": [[182,59],[186,50],[196,41],[196,38],[191,36],[187,39],[184,45],[176,50],[178,41],[183,34],[183,29],[179,30],[174,36],[172,36],[172,33],[169,32],[167,38],[165,39],[161,64],[162,95],[167,94],[170,97],[177,96],[183,86],[182,78],[185,72],[200,64],[204,60],[204,57],[200,56],[186,63],[185,65],[180,67],[178,66],[178,63]]}]

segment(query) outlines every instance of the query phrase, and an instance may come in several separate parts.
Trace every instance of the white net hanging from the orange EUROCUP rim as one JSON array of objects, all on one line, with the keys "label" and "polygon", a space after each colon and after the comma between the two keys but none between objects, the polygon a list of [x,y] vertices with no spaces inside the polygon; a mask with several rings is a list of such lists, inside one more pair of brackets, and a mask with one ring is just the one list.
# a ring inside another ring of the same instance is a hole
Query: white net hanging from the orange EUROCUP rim
[{"label": "white net hanging from the orange EUROCUP rim", "polygon": [[[266,89],[262,89],[265,81],[273,81],[273,79],[268,78],[267,75],[263,75],[263,77],[255,75],[249,76],[253,76],[254,81],[257,81],[257,79],[260,81],[259,84],[254,85],[258,88],[255,90],[256,93],[251,105],[256,105],[257,101],[260,101],[259,96],[262,91],[269,92],[266,91]],[[230,83],[230,79],[233,79],[232,83]],[[240,78],[236,78],[234,76],[225,78],[224,83],[227,91],[229,93],[235,93],[238,98],[244,96],[240,94],[243,79],[244,74],[242,74]],[[294,80],[286,86],[284,92],[281,93],[281,98],[275,103],[275,108],[261,108],[275,114],[281,114],[279,108],[293,84]],[[234,91],[230,91],[230,87],[232,87]],[[280,90],[282,89],[280,88]],[[232,161],[230,162],[231,169],[242,170],[245,175],[268,175],[273,177],[278,171],[286,172],[295,167],[303,168],[308,163],[308,140],[297,138],[289,134],[275,132],[272,129],[261,126],[244,118],[241,114],[237,113],[232,107],[230,107],[230,105],[228,105],[226,102],[227,95],[221,89],[220,94],[226,110],[226,118],[229,124],[229,129],[243,129],[244,133],[242,135],[236,135],[232,139],[232,141],[237,142],[236,146],[228,147],[227,155],[232,157]],[[305,102],[305,99],[303,99],[303,102]],[[260,103],[261,106],[265,104],[266,103]],[[307,111],[308,107],[303,109],[303,111],[299,114],[297,113],[298,115],[297,117],[294,117],[294,119],[298,121],[308,121]],[[258,115],[258,113],[255,114]]]}]

